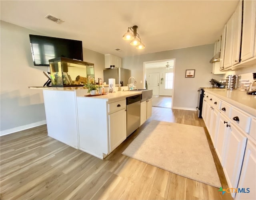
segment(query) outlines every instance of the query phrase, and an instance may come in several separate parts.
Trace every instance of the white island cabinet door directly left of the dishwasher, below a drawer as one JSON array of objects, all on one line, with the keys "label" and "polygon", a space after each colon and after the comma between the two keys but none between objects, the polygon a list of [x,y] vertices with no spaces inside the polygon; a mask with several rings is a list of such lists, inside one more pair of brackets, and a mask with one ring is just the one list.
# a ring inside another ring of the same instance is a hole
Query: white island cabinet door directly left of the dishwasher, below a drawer
[{"label": "white island cabinet door directly left of the dishwasher, below a drawer", "polygon": [[126,139],[126,109],[108,115],[109,151]]}]

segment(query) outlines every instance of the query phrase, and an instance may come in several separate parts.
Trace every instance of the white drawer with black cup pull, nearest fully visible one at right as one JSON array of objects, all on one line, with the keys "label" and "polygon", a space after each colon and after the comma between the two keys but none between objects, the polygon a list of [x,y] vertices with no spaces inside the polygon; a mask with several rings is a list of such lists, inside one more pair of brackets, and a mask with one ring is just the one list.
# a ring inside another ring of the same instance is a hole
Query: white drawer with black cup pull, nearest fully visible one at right
[{"label": "white drawer with black cup pull, nearest fully visible one at right", "polygon": [[242,111],[232,108],[231,110],[231,121],[242,128],[246,133],[249,133],[250,128],[250,116],[244,114]]}]

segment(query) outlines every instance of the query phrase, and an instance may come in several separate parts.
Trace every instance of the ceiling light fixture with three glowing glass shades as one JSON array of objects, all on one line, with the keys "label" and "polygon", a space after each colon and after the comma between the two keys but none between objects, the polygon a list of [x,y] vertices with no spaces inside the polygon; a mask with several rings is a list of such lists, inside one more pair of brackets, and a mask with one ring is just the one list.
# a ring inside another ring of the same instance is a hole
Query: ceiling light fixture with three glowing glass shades
[{"label": "ceiling light fixture with three glowing glass shades", "polygon": [[[133,27],[128,27],[128,31],[124,33],[123,39],[132,40],[130,42],[130,45],[136,46],[136,49],[144,49],[145,45],[141,43],[140,35],[137,33],[137,28],[137,25],[134,25]],[[133,34],[130,32],[130,30]]]}]

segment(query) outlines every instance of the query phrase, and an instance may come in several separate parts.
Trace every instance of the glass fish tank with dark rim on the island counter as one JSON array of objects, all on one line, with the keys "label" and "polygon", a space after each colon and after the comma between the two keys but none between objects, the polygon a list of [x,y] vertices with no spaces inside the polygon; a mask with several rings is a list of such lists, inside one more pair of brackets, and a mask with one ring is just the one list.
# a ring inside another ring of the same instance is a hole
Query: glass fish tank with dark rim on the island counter
[{"label": "glass fish tank with dark rim on the island counter", "polygon": [[49,60],[52,87],[77,87],[95,84],[94,64],[65,57]]}]

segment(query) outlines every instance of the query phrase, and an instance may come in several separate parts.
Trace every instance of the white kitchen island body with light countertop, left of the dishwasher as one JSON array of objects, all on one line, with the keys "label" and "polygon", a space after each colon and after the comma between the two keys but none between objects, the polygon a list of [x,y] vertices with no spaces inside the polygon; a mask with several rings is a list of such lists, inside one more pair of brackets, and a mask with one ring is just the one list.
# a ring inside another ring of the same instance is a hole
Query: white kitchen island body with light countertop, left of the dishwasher
[{"label": "white kitchen island body with light countertop, left of the dishwasher", "polygon": [[83,87],[41,89],[48,135],[104,159],[126,139],[126,97],[142,91],[85,96]]}]

